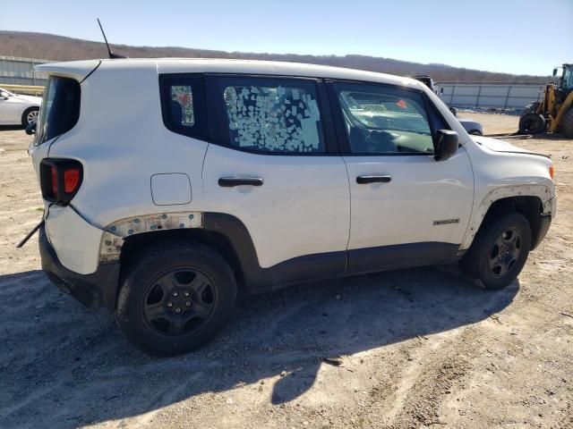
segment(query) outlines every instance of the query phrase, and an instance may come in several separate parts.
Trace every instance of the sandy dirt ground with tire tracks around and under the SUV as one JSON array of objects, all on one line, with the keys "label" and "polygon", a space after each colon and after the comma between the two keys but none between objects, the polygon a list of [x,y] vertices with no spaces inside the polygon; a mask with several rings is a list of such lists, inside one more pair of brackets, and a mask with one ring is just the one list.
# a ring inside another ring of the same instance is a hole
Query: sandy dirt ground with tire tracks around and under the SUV
[{"label": "sandy dirt ground with tire tracks around and under the SUV", "polygon": [[1,427],[573,427],[573,140],[512,139],[552,156],[559,208],[508,289],[446,266],[280,290],[175,358],[56,290],[37,237],[15,248],[41,217],[28,141],[0,130]]}]

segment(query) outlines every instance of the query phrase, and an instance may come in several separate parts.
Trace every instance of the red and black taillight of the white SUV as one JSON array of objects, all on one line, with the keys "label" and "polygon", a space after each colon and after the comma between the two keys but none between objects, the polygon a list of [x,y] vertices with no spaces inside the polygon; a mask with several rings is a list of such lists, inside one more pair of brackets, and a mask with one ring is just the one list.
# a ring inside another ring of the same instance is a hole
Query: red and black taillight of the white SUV
[{"label": "red and black taillight of the white SUV", "polygon": [[61,206],[72,201],[81,186],[83,168],[73,159],[43,159],[39,165],[42,197]]}]

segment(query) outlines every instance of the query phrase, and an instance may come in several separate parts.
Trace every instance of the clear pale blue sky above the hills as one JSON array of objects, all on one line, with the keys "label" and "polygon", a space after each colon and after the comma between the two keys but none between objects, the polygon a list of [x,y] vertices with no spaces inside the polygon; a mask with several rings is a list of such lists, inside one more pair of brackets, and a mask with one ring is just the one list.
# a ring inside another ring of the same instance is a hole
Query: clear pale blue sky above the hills
[{"label": "clear pale blue sky above the hills", "polygon": [[573,63],[573,0],[4,0],[0,29],[111,43],[372,55],[548,75]]}]

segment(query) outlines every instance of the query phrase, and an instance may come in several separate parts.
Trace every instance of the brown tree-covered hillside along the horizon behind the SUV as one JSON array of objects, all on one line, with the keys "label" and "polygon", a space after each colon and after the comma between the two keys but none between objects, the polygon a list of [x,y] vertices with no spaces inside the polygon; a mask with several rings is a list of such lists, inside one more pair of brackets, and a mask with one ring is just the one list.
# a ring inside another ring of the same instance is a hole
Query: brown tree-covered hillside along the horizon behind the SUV
[{"label": "brown tree-covered hillside along the horizon behind the SUV", "polygon": [[[193,57],[238,58],[251,60],[289,61],[333,65],[367,71],[379,71],[401,76],[429,74],[440,82],[546,82],[548,76],[514,75],[492,71],[479,71],[436,63],[411,63],[367,55],[295,55],[225,52],[178,46],[151,47],[112,45],[117,54],[130,57]],[[106,58],[106,46],[100,42],[65,38],[44,33],[0,31],[0,55],[41,58],[50,61]]]}]

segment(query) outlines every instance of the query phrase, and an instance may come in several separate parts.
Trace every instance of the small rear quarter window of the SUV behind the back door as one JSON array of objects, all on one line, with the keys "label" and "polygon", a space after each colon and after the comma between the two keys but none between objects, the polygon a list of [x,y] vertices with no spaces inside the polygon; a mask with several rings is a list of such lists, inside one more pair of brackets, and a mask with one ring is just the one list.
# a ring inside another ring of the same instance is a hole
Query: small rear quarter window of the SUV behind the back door
[{"label": "small rear quarter window of the SUV behind the back door", "polygon": [[168,130],[195,139],[207,139],[203,78],[197,74],[159,77],[161,113]]}]

